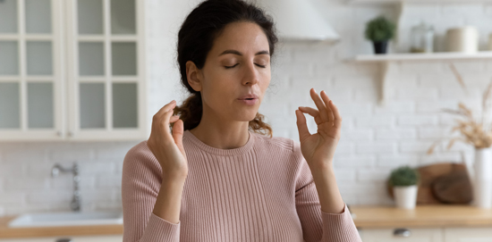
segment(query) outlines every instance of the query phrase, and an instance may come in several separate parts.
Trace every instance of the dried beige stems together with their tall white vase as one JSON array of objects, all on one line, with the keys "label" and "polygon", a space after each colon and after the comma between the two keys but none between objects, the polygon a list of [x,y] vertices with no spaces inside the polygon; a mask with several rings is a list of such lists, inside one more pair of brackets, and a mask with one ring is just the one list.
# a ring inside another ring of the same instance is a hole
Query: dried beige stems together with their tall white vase
[{"label": "dried beige stems together with their tall white vase", "polygon": [[[461,75],[451,64],[454,75],[460,81],[462,88],[465,88]],[[466,88],[465,88],[466,89]],[[470,169],[473,188],[473,204],[479,208],[489,209],[492,207],[492,129],[490,120],[490,107],[492,96],[492,82],[488,84],[482,96],[482,112],[479,121],[473,117],[471,109],[462,103],[458,104],[458,110],[443,109],[445,113],[456,114],[464,120],[455,120],[457,125],[453,127],[452,133],[459,130],[461,137],[454,137],[449,140],[447,149],[450,149],[456,141],[473,146],[475,157],[473,167]],[[438,140],[428,149],[428,154],[432,154],[434,148],[439,144]]]}]

